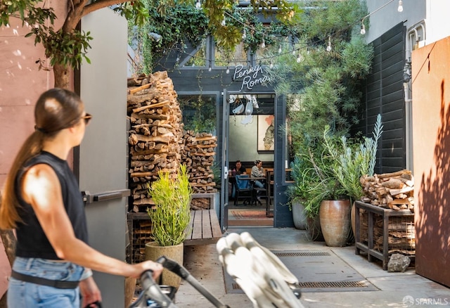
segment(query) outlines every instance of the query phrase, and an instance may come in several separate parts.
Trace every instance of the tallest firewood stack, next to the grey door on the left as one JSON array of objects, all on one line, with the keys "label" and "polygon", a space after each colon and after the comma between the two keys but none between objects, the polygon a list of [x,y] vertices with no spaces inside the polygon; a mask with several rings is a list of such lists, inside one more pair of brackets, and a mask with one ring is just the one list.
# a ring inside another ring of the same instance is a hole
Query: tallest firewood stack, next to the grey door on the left
[{"label": "tallest firewood stack, next to the grey door on the left", "polygon": [[145,212],[153,205],[148,186],[158,172],[176,174],[181,164],[182,114],[167,72],[129,79],[128,84],[129,186],[133,211]]}]

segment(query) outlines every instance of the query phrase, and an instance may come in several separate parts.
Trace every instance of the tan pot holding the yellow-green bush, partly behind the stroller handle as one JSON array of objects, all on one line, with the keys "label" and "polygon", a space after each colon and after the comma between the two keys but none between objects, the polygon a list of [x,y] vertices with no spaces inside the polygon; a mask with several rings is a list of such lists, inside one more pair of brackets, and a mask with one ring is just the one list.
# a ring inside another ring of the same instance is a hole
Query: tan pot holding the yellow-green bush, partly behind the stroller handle
[{"label": "tan pot holding the yellow-green bush, partly behind the stroller handle", "polygon": [[[160,246],[157,242],[146,243],[146,259],[156,261],[161,256],[166,256],[169,259],[174,260],[178,264],[183,264],[183,252],[184,243],[173,246]],[[162,271],[161,283],[163,285],[172,285],[175,288],[179,288],[181,283],[181,277],[172,273],[167,269]]]}]

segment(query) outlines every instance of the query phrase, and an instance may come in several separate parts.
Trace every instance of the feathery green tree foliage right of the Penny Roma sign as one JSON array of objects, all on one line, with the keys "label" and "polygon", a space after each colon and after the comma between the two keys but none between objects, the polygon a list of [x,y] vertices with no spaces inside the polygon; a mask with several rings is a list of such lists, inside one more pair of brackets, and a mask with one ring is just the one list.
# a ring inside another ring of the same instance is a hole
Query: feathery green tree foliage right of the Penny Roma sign
[{"label": "feathery green tree foliage right of the Penny Roma sign", "polygon": [[[358,0],[314,1],[314,5],[316,9],[305,9],[292,30],[298,35],[296,44],[284,46],[268,70],[276,92],[288,96],[295,153],[316,146],[327,124],[331,132],[342,135],[357,122],[359,83],[370,72],[373,58],[372,46],[357,34],[358,25],[352,26],[366,15]],[[328,38],[331,51],[326,50]],[[289,52],[293,48],[300,53],[300,62]]]}]

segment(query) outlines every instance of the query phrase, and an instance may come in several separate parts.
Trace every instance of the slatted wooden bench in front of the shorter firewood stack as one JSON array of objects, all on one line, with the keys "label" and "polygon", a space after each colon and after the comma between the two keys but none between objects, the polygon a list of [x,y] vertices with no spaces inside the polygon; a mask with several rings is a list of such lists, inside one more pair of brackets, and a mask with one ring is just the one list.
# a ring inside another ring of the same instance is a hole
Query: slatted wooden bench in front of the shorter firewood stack
[{"label": "slatted wooden bench in front of the shorter firewood stack", "polygon": [[191,210],[191,230],[184,240],[184,245],[215,244],[222,237],[219,219],[215,210]]}]

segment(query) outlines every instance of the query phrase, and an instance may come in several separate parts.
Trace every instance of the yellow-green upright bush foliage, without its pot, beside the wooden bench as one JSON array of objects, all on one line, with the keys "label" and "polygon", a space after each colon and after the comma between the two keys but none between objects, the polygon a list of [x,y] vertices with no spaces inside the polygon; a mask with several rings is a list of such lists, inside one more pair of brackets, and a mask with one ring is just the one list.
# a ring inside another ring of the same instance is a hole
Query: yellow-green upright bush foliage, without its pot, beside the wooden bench
[{"label": "yellow-green upright bush foliage, without its pot, beside the wooden bench", "polygon": [[148,209],[152,221],[152,238],[160,246],[183,243],[191,219],[192,188],[189,185],[186,165],[172,179],[169,172],[158,172],[159,179],[148,188],[155,202],[154,209]]}]

